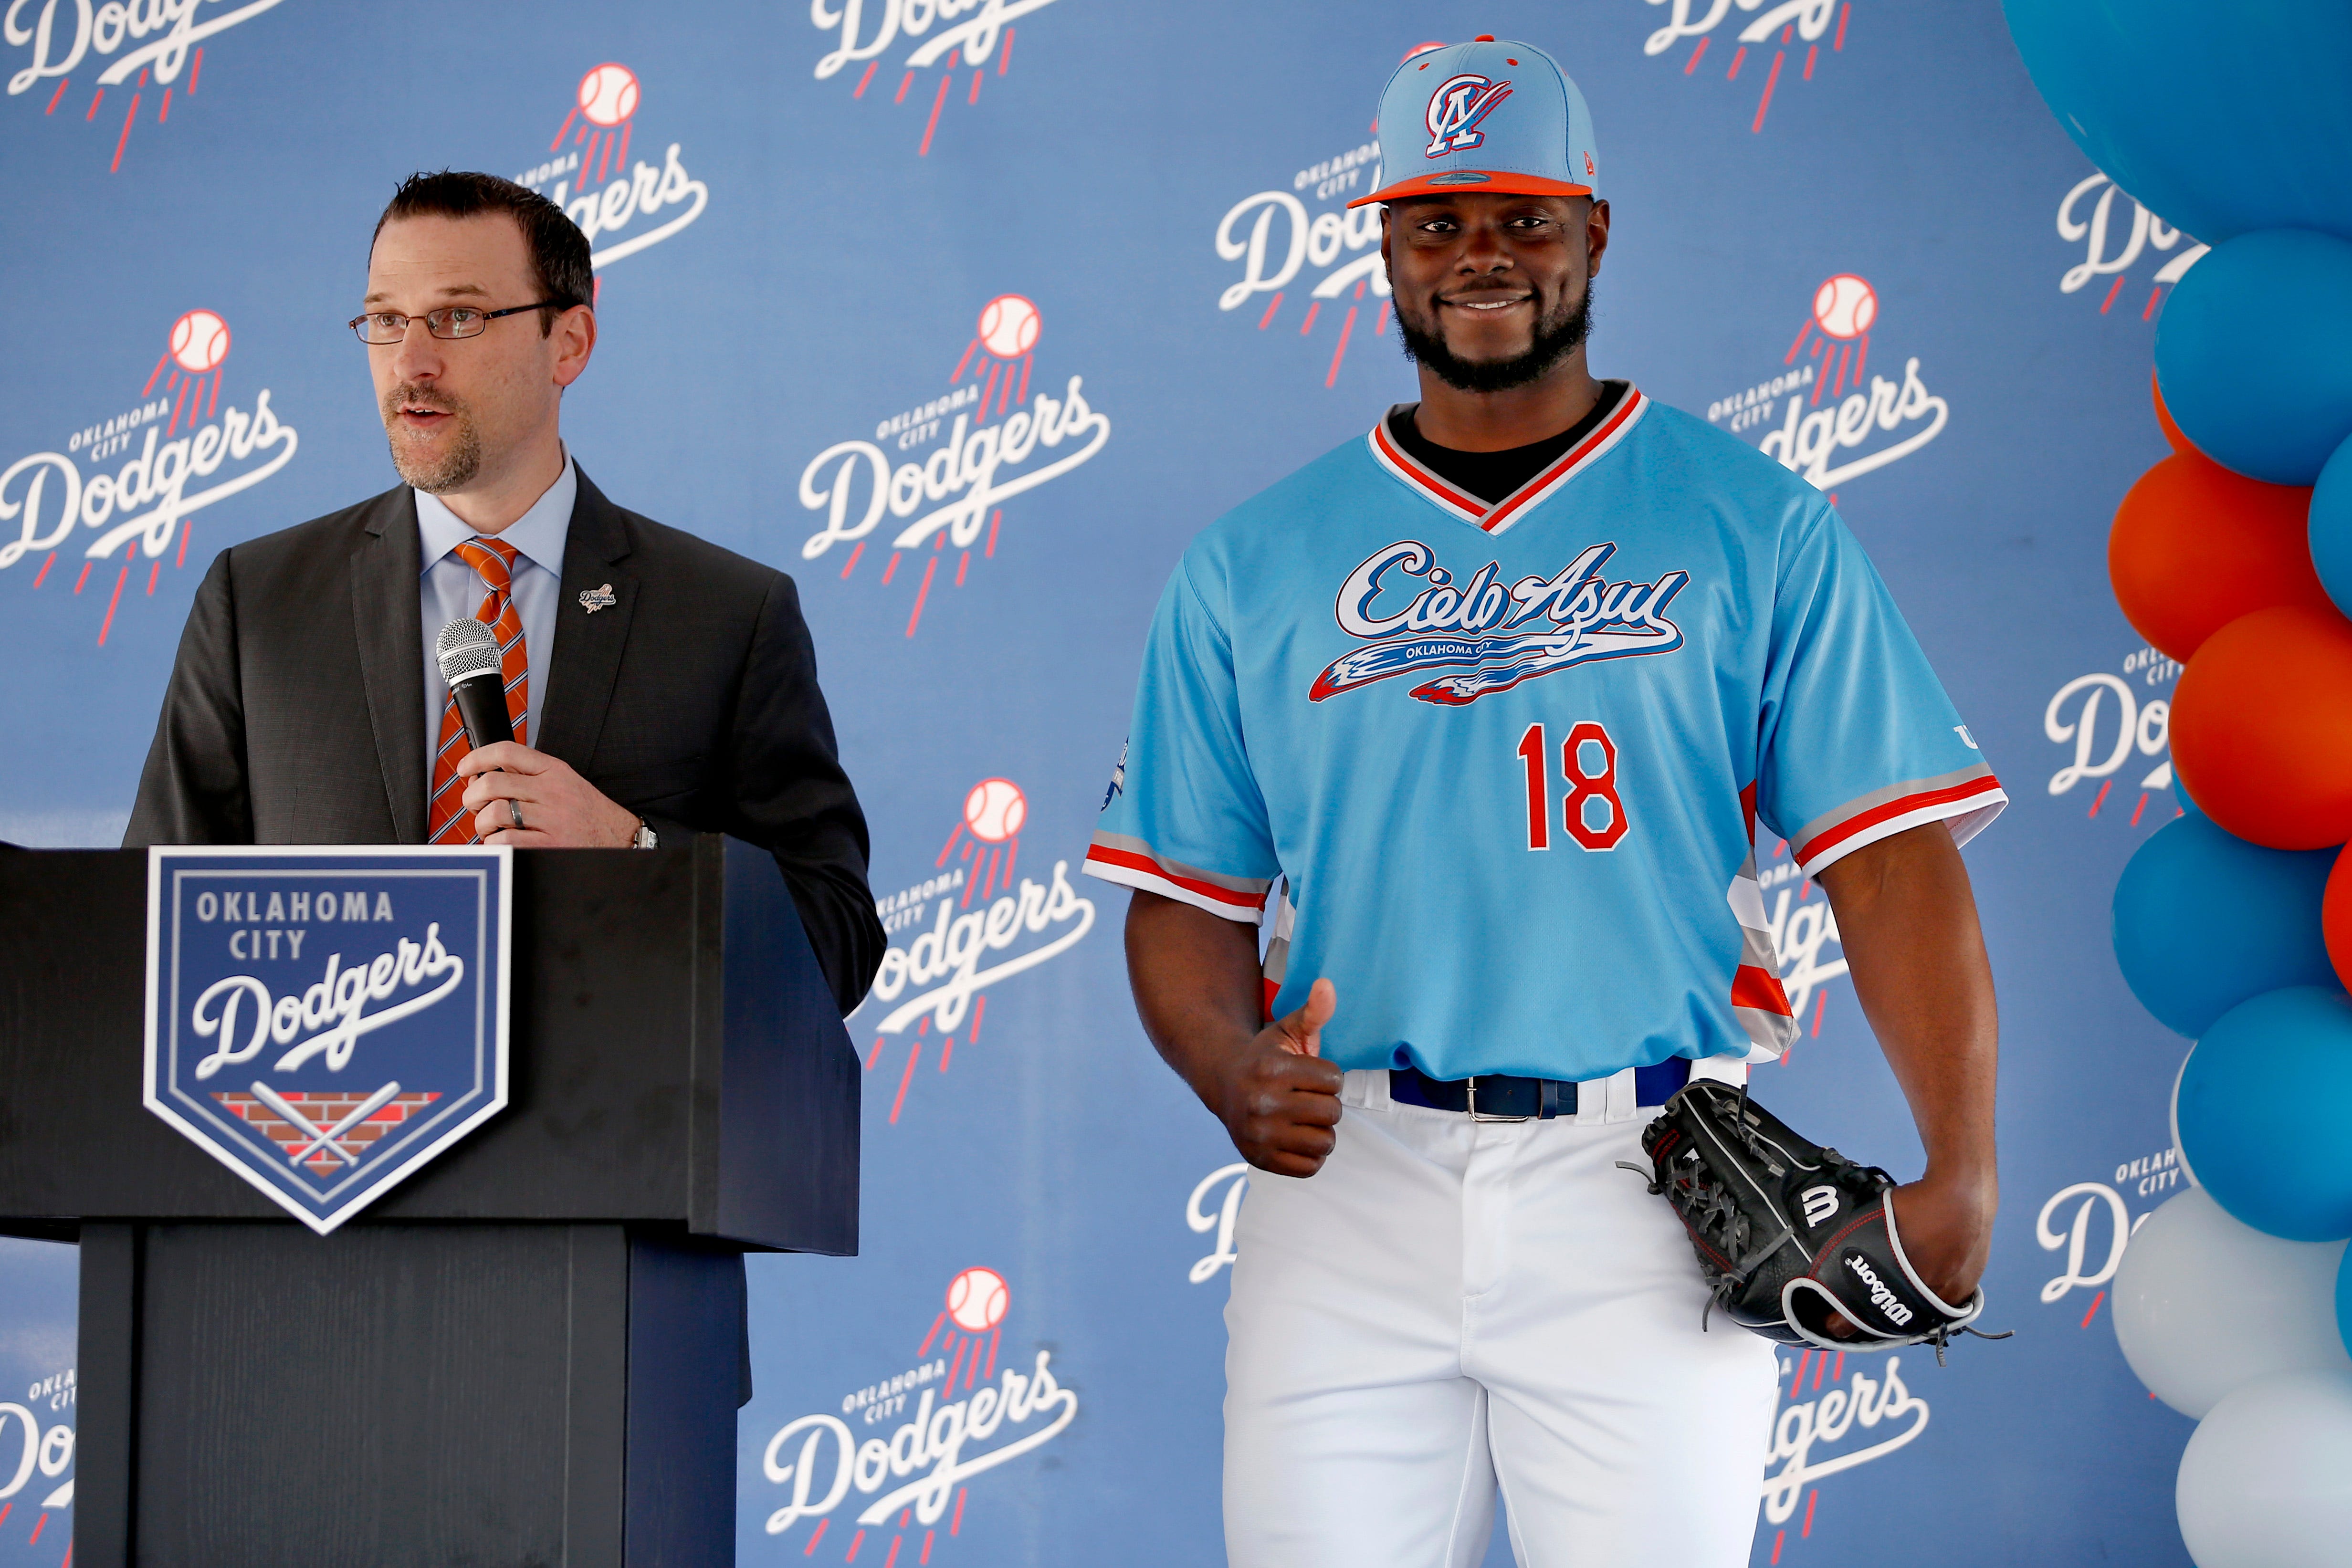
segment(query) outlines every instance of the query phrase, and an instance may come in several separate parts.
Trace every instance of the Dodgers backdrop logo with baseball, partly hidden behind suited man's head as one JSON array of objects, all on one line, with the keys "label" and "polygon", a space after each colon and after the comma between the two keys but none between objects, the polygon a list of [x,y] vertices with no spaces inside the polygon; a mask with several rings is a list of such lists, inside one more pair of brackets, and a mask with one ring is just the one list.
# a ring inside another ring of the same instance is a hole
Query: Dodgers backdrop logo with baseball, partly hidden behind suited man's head
[{"label": "Dodgers backdrop logo with baseball, partly hidden behind suited man's head", "polygon": [[[675,141],[659,165],[642,158],[628,162],[642,94],[637,73],[628,66],[593,66],[572,92],[564,122],[555,127],[550,158],[515,176],[517,186],[539,190],[579,223],[595,270],[661,244],[703,216],[710,202],[703,181],[680,162]],[[548,181],[555,186],[543,188]],[[597,277],[597,294],[602,292],[604,280]]]}]

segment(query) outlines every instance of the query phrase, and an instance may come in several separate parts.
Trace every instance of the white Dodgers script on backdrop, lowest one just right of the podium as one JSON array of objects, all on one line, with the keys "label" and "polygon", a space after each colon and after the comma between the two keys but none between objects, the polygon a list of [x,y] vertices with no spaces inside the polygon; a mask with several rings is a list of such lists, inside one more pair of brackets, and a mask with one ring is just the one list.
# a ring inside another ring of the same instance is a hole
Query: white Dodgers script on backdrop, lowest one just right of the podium
[{"label": "white Dodgers script on backdrop, lowest one just right of the podium", "polygon": [[[997,1382],[946,1403],[927,1387],[915,1415],[889,1439],[861,1443],[849,1422],[828,1413],[786,1422],[760,1453],[762,1474],[793,1488],[767,1516],[767,1533],[783,1535],[802,1519],[830,1514],[851,1488],[873,1497],[856,1516],[861,1526],[908,1505],[917,1521],[938,1523],[957,1483],[1051,1443],[1077,1418],[1077,1394],[1054,1380],[1051,1361],[1040,1349],[1028,1373],[1007,1366]],[[889,1481],[898,1486],[882,1490]]]}]

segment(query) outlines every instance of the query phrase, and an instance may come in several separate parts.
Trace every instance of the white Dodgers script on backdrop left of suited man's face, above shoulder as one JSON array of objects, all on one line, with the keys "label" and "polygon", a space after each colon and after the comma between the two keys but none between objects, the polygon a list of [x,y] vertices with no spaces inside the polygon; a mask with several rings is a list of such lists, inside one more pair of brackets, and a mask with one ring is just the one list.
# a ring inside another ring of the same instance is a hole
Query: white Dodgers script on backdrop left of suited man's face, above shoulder
[{"label": "white Dodgers script on backdrop left of suited man's face, above shoulder", "polygon": [[[216,421],[188,435],[160,437],[162,430],[146,425],[139,456],[87,480],[64,451],[35,451],[0,468],[0,571],[26,555],[64,548],[75,527],[96,531],[82,550],[92,559],[106,559],[132,538],[143,555],[160,557],[172,548],[181,517],[261,484],[292,463],[299,447],[294,425],[270,409],[268,388],[254,395],[252,414],[228,404]],[[188,489],[223,465],[240,468],[216,484]],[[7,524],[14,524],[14,538],[5,538]]]}]

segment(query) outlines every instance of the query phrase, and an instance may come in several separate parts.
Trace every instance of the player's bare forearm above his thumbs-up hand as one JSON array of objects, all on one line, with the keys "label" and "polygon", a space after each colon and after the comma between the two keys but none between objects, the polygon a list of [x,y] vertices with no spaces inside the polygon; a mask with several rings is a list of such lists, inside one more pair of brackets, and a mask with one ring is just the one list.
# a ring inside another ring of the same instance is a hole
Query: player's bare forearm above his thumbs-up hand
[{"label": "player's bare forearm above his thumbs-up hand", "polygon": [[1127,903],[1127,983],[1152,1046],[1221,1112],[1214,1070],[1265,1018],[1256,926],[1138,889]]}]

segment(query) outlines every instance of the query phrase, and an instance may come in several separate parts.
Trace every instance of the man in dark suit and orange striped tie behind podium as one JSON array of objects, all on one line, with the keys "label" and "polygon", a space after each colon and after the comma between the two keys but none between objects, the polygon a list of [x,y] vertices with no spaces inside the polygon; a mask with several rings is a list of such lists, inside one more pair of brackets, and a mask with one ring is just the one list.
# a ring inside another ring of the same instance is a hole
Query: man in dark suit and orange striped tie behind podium
[{"label": "man in dark suit and orange striped tie behind podium", "polygon": [[[588,240],[492,174],[419,174],[353,329],[405,484],[223,550],[125,844],[640,846],[776,856],[847,1013],[882,961],[866,818],[793,578],[604,498],[564,451]],[[477,616],[513,743],[470,752],[430,658]]]}]

